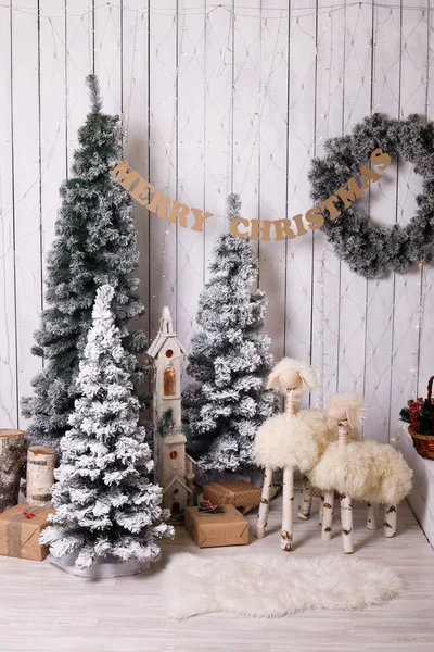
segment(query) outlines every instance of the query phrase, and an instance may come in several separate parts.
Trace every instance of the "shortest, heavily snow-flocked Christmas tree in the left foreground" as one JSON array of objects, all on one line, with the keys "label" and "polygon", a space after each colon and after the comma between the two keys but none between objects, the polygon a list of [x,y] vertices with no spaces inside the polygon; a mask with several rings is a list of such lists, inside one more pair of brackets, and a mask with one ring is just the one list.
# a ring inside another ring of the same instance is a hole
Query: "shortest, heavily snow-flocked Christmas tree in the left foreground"
[{"label": "shortest, heavily snow-flocked Christmas tree in the left foreground", "polygon": [[139,401],[132,396],[131,354],[122,346],[111,309],[114,289],[98,290],[77,386],[81,398],[62,439],[53,488],[55,525],[41,535],[55,557],[78,552],[84,569],[98,557],[151,561],[156,538],[173,535],[164,523],[162,489],[153,468]]}]

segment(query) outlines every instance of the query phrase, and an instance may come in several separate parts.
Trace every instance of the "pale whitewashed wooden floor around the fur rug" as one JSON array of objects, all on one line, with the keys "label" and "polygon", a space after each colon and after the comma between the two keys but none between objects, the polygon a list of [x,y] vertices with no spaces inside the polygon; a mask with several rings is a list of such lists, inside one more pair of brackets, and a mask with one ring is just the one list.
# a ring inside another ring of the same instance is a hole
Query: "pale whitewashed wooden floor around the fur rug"
[{"label": "pale whitewashed wooden floor around the fur rug", "polygon": [[[355,510],[359,559],[383,561],[404,578],[399,600],[363,612],[309,612],[275,620],[225,614],[181,623],[165,616],[162,570],[168,557],[279,551],[280,499],[271,506],[269,534],[247,548],[200,551],[182,527],[165,542],[164,557],[146,575],[91,581],[71,577],[48,562],[0,557],[0,651],[12,652],[433,652],[434,551],[407,504],[395,539],[365,529]],[[336,534],[322,543],[317,518],[296,519],[294,555],[341,554]],[[256,514],[251,516],[256,522]],[[336,524],[337,530],[337,524]]]}]

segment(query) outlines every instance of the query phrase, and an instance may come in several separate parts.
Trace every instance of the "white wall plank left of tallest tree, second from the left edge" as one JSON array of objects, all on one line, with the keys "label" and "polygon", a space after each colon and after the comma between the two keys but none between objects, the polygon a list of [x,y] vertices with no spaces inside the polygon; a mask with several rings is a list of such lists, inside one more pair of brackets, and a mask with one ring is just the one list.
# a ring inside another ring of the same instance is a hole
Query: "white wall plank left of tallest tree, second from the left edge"
[{"label": "white wall plank left of tallest tree, second from the left edge", "polygon": [[[40,23],[37,0],[11,16],[12,149],[14,193],[15,334],[17,394],[31,391],[41,360],[29,354],[42,308]],[[23,45],[25,43],[25,47]],[[63,88],[62,88],[63,91]]]}]

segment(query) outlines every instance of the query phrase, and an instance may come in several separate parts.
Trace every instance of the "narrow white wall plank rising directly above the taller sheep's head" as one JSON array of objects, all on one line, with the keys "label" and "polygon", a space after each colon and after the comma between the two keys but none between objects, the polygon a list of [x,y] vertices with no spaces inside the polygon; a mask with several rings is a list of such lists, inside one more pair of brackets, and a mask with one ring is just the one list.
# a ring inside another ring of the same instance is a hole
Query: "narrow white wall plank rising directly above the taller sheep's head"
[{"label": "narrow white wall plank rising directly above the taller sheep's head", "polygon": [[[298,9],[299,8],[299,9]],[[307,9],[306,9],[307,8]],[[288,216],[311,206],[307,173],[315,153],[318,27],[315,0],[295,0],[290,14]],[[286,240],[286,353],[309,359],[312,343],[312,237]],[[296,353],[295,353],[296,351]]]}]

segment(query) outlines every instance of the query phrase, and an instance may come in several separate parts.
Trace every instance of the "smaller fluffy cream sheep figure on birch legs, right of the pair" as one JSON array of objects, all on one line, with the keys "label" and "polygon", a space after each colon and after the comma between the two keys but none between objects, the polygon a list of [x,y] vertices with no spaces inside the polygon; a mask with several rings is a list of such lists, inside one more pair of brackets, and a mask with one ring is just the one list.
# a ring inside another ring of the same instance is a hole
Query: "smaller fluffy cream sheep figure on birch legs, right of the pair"
[{"label": "smaller fluffy cream sheep figure on birch legs, right of the pair", "polygon": [[412,471],[392,446],[376,441],[350,441],[365,416],[357,394],[330,400],[329,427],[337,426],[339,440],[332,441],[308,473],[310,481],[324,492],[322,538],[331,538],[334,491],[341,499],[344,552],[353,552],[352,499],[368,503],[368,527],[375,527],[375,505],[385,507],[384,536],[396,534],[398,503],[411,490]]}]

